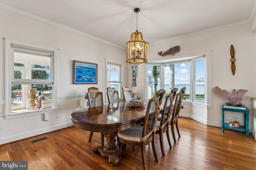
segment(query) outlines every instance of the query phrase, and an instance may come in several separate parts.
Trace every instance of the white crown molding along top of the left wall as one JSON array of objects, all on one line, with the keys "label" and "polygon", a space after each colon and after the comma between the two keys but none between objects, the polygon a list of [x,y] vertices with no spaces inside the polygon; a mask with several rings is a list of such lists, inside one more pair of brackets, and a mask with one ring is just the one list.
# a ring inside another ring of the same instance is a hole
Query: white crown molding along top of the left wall
[{"label": "white crown molding along top of the left wall", "polygon": [[108,44],[108,45],[112,45],[112,46],[115,46],[115,47],[118,47],[118,48],[121,48],[121,49],[125,49],[124,47],[122,47],[122,46],[120,46],[120,45],[116,45],[116,44],[114,44],[114,43],[110,43],[109,41],[106,41],[106,40],[104,40],[104,39],[100,39],[100,38],[98,38],[98,37],[94,37],[94,36],[92,36],[92,35],[89,35],[89,34],[87,34],[87,33],[82,32],[82,31],[78,31],[78,30],[76,30],[76,29],[67,27],[67,26],[65,26],[65,25],[56,23],[56,22],[54,22],[54,21],[47,20],[47,19],[45,19],[45,18],[36,16],[36,15],[34,15],[34,14],[30,14],[30,13],[28,13],[28,12],[19,10],[19,9],[17,9],[17,8],[8,6],[8,5],[6,5],[6,4],[0,3],[0,8],[2,8],[2,9],[4,9],[4,10],[11,11],[11,12],[14,12],[14,13],[16,13],[16,14],[20,14],[20,15],[22,15],[22,16],[26,16],[26,17],[28,17],[28,18],[32,18],[32,19],[34,19],[34,20],[38,20],[38,21],[47,23],[47,24],[49,24],[49,25],[53,25],[53,26],[59,27],[59,28],[61,28],[61,29],[65,29],[65,30],[70,31],[70,32],[72,32],[72,33],[76,33],[76,34],[79,34],[79,35],[83,35],[83,36],[85,36],[85,37],[94,39],[94,40],[96,40],[96,41],[100,41],[100,42],[102,42],[102,43],[106,43],[106,44]]}]

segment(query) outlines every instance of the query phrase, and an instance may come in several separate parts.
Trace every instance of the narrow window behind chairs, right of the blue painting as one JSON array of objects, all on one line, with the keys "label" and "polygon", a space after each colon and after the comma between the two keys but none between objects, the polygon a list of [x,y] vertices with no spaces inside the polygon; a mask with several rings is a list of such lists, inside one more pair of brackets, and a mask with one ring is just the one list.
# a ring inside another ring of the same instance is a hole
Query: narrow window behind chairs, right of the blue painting
[{"label": "narrow window behind chairs, right of the blue painting", "polygon": [[107,87],[114,87],[119,94],[119,97],[122,95],[122,64],[115,63],[112,61],[106,61],[106,86]]}]

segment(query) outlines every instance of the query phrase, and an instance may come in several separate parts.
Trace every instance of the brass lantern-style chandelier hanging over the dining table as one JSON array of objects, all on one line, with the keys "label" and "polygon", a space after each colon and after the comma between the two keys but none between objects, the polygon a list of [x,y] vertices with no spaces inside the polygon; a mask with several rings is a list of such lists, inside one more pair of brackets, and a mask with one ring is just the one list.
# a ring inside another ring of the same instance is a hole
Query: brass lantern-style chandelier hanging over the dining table
[{"label": "brass lantern-style chandelier hanging over the dining table", "polygon": [[147,47],[148,43],[143,40],[141,32],[138,32],[138,12],[139,8],[135,8],[134,12],[137,14],[137,30],[132,33],[131,40],[126,43],[127,58],[126,63],[140,64],[147,63]]}]

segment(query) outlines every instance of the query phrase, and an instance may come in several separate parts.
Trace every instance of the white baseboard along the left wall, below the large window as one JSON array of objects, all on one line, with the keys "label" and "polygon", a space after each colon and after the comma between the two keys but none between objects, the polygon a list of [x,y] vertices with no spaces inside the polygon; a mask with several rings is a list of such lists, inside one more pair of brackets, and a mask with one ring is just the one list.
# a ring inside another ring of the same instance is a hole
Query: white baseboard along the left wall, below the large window
[{"label": "white baseboard along the left wall, below the large window", "polygon": [[48,132],[51,132],[51,131],[56,131],[56,130],[63,129],[63,128],[66,128],[66,127],[70,127],[70,126],[72,126],[72,124],[70,122],[68,122],[68,123],[64,123],[64,124],[61,124],[61,125],[54,125],[52,127],[44,127],[42,129],[37,129],[35,131],[27,131],[25,133],[19,133],[19,134],[11,135],[11,136],[8,136],[8,137],[0,138],[0,145],[3,145],[5,143],[10,143],[10,142],[13,142],[13,141],[18,141],[20,139],[25,139],[25,138],[28,138],[28,137],[33,137],[33,136],[36,136],[36,135],[41,135],[41,134],[48,133]]}]

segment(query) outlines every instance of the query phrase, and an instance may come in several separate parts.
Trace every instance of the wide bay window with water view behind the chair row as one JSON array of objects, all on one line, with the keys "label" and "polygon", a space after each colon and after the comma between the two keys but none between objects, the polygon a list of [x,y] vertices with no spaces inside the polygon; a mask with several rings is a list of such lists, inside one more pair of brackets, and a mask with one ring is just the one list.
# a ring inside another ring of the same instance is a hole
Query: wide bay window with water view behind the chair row
[{"label": "wide bay window with water view behind the chair row", "polygon": [[170,89],[180,90],[186,87],[183,100],[187,102],[207,105],[207,65],[210,68],[210,53],[195,55],[192,57],[180,57],[163,61],[148,61],[147,64],[147,95],[151,98],[160,88],[170,93]]}]

